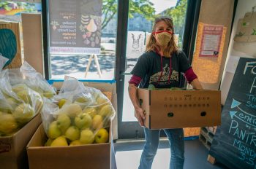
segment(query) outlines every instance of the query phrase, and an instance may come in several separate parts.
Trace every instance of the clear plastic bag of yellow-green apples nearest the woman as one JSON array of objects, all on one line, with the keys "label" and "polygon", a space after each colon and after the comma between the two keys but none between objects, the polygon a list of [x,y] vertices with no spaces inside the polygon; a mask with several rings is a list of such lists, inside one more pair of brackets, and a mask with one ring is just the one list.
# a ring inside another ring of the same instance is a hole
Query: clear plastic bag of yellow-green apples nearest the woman
[{"label": "clear plastic bag of yellow-green apples nearest the woman", "polygon": [[116,112],[100,90],[85,87],[77,79],[67,77],[53,102],[44,102],[42,110],[48,135],[45,146],[108,142],[110,121]]}]

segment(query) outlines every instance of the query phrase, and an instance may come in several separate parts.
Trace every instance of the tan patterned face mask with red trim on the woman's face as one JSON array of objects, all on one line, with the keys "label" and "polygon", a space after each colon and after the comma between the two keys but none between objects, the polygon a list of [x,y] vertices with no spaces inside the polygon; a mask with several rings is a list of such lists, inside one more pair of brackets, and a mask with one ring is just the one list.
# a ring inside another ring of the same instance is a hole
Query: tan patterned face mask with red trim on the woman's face
[{"label": "tan patterned face mask with red trim on the woman's face", "polygon": [[157,39],[157,42],[162,47],[167,46],[167,44],[170,42],[170,39],[173,36],[172,31],[154,31],[152,33],[155,35],[155,38]]}]

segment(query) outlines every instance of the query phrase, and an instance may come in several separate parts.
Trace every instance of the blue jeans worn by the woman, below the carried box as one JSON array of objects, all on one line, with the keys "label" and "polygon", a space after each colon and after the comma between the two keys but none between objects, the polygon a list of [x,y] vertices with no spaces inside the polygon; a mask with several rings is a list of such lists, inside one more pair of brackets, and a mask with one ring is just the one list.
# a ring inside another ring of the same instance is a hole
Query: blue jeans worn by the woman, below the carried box
[{"label": "blue jeans worn by the woman, below the carried box", "polygon": [[[184,132],[182,128],[164,129],[170,143],[170,168],[182,169],[184,165]],[[144,127],[146,143],[140,157],[139,169],[150,169],[157,154],[160,130]]]}]

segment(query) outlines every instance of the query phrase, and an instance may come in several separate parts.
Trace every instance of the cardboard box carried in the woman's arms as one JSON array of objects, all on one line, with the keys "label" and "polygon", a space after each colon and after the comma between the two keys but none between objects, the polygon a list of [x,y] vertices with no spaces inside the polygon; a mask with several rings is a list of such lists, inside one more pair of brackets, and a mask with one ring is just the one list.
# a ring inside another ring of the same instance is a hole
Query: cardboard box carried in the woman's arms
[{"label": "cardboard box carried in the woman's arms", "polygon": [[218,90],[138,89],[146,127],[150,129],[220,125]]}]

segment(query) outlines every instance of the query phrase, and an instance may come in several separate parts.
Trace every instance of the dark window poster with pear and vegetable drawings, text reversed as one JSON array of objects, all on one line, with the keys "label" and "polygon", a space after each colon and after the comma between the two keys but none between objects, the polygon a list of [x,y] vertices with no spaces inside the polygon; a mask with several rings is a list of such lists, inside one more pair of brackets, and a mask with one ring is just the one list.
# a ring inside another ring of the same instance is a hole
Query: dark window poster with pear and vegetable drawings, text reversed
[{"label": "dark window poster with pear and vegetable drawings, text reversed", "polygon": [[50,53],[100,53],[102,0],[54,0],[48,7]]}]

